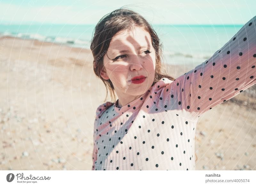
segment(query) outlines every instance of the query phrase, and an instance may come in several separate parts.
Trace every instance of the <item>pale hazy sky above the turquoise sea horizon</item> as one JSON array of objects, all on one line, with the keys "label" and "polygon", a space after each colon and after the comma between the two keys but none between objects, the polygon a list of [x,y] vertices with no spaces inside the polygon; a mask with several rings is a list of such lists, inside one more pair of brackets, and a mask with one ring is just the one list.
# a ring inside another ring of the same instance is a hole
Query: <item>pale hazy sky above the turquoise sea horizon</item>
[{"label": "pale hazy sky above the turquoise sea horizon", "polygon": [[255,0],[0,0],[0,24],[97,24],[127,7],[152,24],[244,24],[256,15]]}]

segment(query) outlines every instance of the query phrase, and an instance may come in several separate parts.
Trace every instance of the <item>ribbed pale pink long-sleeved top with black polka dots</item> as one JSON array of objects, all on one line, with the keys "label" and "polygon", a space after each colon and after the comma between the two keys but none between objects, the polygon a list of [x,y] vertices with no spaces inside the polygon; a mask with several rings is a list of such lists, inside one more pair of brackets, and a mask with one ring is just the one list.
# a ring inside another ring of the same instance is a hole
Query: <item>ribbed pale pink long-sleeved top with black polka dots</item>
[{"label": "ribbed pale pink long-sleeved top with black polka dots", "polygon": [[256,83],[255,23],[174,81],[159,80],[123,107],[100,105],[92,170],[195,170],[198,117]]}]

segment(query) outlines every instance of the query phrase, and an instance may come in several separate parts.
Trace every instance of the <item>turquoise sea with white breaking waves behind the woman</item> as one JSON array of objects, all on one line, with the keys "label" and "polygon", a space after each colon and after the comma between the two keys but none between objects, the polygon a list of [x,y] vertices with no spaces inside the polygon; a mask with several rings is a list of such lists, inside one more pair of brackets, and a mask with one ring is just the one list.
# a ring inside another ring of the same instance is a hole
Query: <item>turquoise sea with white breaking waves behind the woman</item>
[{"label": "turquoise sea with white breaking waves behind the woman", "polygon": [[[0,25],[0,35],[90,49],[95,25]],[[243,25],[153,25],[164,62],[198,65],[227,43]]]}]

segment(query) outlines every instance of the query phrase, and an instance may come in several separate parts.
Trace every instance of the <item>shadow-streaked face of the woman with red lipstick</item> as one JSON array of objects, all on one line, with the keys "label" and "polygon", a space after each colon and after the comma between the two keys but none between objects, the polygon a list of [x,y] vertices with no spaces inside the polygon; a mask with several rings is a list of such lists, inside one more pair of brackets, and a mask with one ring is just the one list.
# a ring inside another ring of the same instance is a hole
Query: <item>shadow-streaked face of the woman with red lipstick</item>
[{"label": "shadow-streaked face of the woman with red lipstick", "polygon": [[[156,52],[151,36],[141,27],[118,32],[112,37],[103,64],[106,70],[101,76],[110,79],[119,98],[144,94],[155,76]],[[144,76],[144,81],[132,81],[138,76]]]}]

